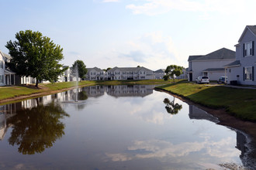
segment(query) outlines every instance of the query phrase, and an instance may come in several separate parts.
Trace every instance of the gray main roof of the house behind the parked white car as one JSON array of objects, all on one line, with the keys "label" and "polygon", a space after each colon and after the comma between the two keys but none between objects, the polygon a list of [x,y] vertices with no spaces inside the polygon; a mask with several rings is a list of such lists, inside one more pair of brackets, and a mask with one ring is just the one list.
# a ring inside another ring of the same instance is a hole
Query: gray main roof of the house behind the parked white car
[{"label": "gray main roof of the house behind the parked white car", "polygon": [[236,53],[233,50],[222,48],[205,56],[189,56],[189,61],[193,60],[208,60],[208,59],[235,59]]}]

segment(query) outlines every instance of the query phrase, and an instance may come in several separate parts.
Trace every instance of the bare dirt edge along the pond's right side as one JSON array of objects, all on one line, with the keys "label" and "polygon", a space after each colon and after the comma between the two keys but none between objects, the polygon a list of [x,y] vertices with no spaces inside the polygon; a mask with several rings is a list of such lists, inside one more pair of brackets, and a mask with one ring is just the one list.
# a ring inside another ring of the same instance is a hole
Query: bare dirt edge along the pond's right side
[{"label": "bare dirt edge along the pond's right side", "polygon": [[220,121],[218,124],[220,124],[220,125],[234,128],[234,129],[237,129],[238,131],[243,131],[251,139],[251,141],[249,141],[248,145],[254,146],[254,149],[251,150],[251,152],[248,154],[251,158],[256,158],[256,148],[255,148],[255,146],[256,146],[256,123],[255,122],[240,120],[239,118],[228,114],[224,108],[223,109],[213,109],[213,108],[205,107],[200,104],[195,104],[191,100],[186,99],[185,97],[182,97],[182,96],[178,96],[177,94],[171,93],[167,90],[157,89],[157,91],[169,93],[169,94],[171,94],[171,96],[174,96],[174,97],[178,98],[179,100],[184,101],[187,104],[191,104],[191,105],[194,105],[195,107],[199,107],[200,109],[205,110],[207,113],[212,114],[214,117],[217,117]]}]

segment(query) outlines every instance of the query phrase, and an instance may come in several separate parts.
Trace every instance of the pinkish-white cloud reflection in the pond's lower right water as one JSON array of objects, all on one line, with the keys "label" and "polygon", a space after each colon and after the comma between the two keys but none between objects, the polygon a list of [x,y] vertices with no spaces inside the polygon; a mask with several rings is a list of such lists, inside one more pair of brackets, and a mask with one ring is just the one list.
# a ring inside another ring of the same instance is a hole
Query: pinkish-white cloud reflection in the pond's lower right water
[{"label": "pinkish-white cloud reflection in the pond's lower right water", "polygon": [[183,142],[177,145],[172,144],[170,141],[151,139],[148,141],[134,141],[133,145],[127,148],[128,152],[133,151],[133,153],[137,153],[135,155],[123,153],[107,154],[107,156],[112,161],[123,162],[135,158],[177,158],[188,156],[192,152],[204,151],[205,153],[202,155],[223,159],[232,158],[239,154],[239,151],[234,150],[232,147],[233,143],[232,138],[224,138],[220,141],[209,141],[208,138],[205,138],[205,141],[202,142]]}]

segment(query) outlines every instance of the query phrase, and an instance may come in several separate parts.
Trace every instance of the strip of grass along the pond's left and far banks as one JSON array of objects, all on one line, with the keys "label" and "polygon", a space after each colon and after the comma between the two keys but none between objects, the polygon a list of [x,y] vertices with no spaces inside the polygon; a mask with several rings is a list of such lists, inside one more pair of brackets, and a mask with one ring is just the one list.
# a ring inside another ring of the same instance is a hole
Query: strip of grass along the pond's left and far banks
[{"label": "strip of grass along the pond's left and far banks", "polygon": [[[170,83],[164,80],[109,80],[109,81],[81,81],[78,86],[92,85],[120,85],[120,84],[163,84]],[[16,86],[16,87],[0,87],[0,101],[5,99],[15,99],[16,97],[30,95],[34,93],[54,92],[56,90],[65,90],[71,87],[76,87],[76,82],[63,83],[40,83],[36,88],[34,85]]]}]

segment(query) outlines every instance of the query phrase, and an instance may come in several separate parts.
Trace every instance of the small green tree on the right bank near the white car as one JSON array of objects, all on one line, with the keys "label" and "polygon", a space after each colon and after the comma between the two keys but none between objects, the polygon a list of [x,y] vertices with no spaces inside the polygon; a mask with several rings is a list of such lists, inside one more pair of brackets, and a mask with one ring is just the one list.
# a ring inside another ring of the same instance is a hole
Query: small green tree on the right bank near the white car
[{"label": "small green tree on the right bank near the white car", "polygon": [[173,79],[173,82],[175,83],[175,77],[180,76],[183,73],[184,67],[183,66],[176,66],[176,65],[170,65],[167,66],[166,70],[164,71],[164,80],[167,81],[171,77]]}]

